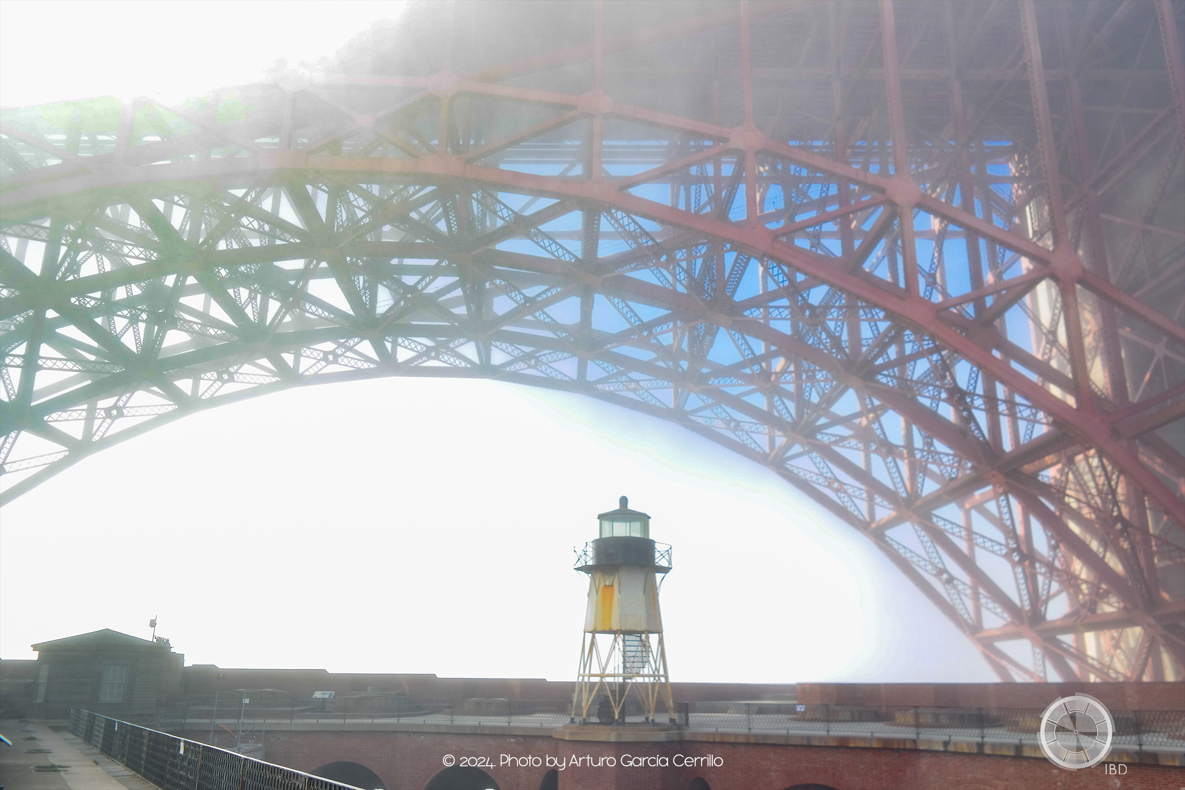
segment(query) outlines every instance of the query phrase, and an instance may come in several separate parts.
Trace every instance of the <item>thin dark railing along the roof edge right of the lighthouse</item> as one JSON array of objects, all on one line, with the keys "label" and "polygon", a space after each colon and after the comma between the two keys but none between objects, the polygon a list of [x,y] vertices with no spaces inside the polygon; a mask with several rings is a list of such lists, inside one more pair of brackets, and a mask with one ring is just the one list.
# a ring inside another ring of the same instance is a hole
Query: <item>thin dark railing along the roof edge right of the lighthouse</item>
[{"label": "thin dark railing along the roof edge right of the lighthouse", "polygon": [[[716,732],[784,732],[1038,745],[1042,711],[911,706],[796,705],[793,702],[680,702],[679,724]],[[1112,747],[1185,752],[1185,711],[1112,711]]]}]

